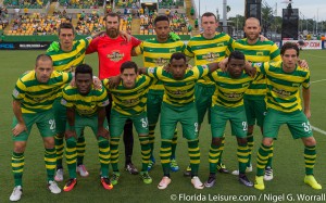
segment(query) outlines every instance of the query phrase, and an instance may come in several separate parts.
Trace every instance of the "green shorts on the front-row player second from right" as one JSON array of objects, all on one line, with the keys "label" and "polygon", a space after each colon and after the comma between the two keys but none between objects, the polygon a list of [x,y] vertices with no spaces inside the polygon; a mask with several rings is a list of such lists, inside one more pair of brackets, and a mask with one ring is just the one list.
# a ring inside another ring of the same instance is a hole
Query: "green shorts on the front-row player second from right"
[{"label": "green shorts on the front-row player second from right", "polygon": [[246,138],[248,131],[247,117],[244,107],[227,110],[214,105],[211,107],[211,131],[213,138],[222,138],[226,122],[230,122],[231,135],[237,138]]}]

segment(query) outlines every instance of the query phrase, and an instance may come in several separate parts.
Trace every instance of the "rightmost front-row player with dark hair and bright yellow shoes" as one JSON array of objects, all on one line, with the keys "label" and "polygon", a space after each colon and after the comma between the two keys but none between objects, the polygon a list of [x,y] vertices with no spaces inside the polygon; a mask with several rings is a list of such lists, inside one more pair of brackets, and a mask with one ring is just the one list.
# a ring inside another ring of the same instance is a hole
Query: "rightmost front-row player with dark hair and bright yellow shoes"
[{"label": "rightmost front-row player with dark hair and bright yellow shoes", "polygon": [[[273,140],[279,127],[287,124],[294,139],[304,144],[304,182],[313,189],[322,189],[315,180],[313,169],[316,160],[316,140],[313,137],[309,118],[310,111],[310,71],[297,65],[299,48],[296,43],[285,43],[280,49],[281,60],[275,63],[255,63],[254,67],[267,78],[267,114],[264,119],[262,144],[258,151],[258,170],[254,188],[264,190],[264,169],[272,153]],[[300,99],[302,86],[303,110]]]}]

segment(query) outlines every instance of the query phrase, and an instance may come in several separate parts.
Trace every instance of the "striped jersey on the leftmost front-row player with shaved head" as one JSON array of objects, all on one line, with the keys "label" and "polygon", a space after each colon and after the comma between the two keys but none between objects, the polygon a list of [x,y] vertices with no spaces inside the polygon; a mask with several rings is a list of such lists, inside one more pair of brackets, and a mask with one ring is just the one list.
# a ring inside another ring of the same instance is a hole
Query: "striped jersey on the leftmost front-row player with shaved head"
[{"label": "striped jersey on the leftmost front-row player with shaved head", "polygon": [[16,83],[12,97],[21,102],[22,113],[50,110],[61,87],[73,78],[71,73],[53,71],[48,83],[39,83],[35,71],[23,75]]}]

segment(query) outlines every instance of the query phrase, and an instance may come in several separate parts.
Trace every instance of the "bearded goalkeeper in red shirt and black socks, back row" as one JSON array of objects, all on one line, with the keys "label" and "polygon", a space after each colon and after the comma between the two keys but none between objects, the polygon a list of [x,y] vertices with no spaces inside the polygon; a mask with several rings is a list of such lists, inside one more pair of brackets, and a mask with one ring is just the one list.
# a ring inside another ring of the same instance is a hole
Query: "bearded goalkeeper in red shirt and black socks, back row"
[{"label": "bearded goalkeeper in red shirt and black socks, back row", "polygon": [[[131,37],[130,41],[126,41],[120,35],[120,16],[116,13],[108,13],[104,17],[106,34],[93,39],[86,53],[98,52],[99,56],[99,78],[104,79],[120,74],[121,65],[131,60],[131,50],[140,45],[140,40]],[[112,101],[109,93],[109,100]],[[110,125],[111,103],[106,106],[106,118]],[[133,175],[137,175],[138,170],[131,163],[134,138],[133,123],[126,122],[124,128],[125,143],[125,169]]]}]

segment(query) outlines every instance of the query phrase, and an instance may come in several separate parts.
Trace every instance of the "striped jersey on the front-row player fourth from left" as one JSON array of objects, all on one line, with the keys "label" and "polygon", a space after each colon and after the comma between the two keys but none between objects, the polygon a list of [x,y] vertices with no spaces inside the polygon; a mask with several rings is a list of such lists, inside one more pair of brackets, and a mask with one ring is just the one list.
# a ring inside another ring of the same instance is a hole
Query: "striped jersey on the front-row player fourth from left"
[{"label": "striped jersey on the front-row player fourth from left", "polygon": [[208,73],[209,67],[206,65],[198,65],[191,69],[187,68],[183,79],[174,79],[173,75],[165,72],[163,67],[147,69],[150,77],[163,83],[165,89],[163,102],[175,107],[185,106],[195,101],[195,85],[198,79],[208,75]]}]

